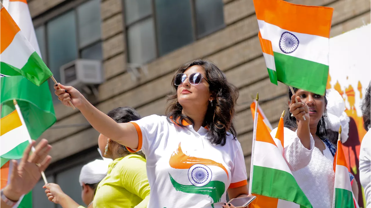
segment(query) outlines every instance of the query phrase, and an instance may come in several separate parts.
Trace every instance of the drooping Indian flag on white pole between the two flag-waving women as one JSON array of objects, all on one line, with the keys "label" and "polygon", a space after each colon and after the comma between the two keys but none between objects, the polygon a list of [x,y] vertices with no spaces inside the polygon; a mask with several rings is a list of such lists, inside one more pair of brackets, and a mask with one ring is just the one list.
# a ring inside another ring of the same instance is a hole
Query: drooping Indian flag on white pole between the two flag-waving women
[{"label": "drooping Indian flag on white pole between the two flag-waving women", "polygon": [[[283,123],[283,119],[280,123]],[[281,144],[279,139],[278,142]],[[251,160],[249,191],[256,196],[256,199],[250,207],[312,208],[308,198],[293,177],[282,156],[282,151],[270,136],[262,117],[257,112],[254,116]]]}]

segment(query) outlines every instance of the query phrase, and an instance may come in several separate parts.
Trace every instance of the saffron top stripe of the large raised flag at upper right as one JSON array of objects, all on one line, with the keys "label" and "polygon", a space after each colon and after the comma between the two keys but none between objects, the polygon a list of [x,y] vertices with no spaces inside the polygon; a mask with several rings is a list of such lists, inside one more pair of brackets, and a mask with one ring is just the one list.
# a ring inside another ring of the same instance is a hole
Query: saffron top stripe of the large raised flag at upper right
[{"label": "saffron top stripe of the large raised flag at upper right", "polygon": [[254,0],[256,18],[297,33],[330,37],[331,7],[304,6],[282,0]]}]

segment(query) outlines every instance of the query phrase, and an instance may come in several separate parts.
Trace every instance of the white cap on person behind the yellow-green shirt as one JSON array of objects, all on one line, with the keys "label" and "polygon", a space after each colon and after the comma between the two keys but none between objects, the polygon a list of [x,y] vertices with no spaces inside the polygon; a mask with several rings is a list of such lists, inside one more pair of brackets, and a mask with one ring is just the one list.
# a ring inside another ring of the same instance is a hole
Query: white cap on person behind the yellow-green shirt
[{"label": "white cap on person behind the yellow-green shirt", "polygon": [[79,182],[82,184],[96,184],[107,175],[109,160],[94,160],[81,168]]}]

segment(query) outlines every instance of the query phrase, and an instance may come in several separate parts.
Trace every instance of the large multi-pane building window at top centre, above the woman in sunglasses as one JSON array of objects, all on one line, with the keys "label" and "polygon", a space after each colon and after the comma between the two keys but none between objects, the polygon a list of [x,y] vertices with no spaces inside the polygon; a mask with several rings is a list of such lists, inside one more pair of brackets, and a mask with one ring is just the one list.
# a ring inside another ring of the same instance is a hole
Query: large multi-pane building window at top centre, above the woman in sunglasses
[{"label": "large multi-pane building window at top centre, above the woman in sunglasses", "polygon": [[130,63],[147,63],[224,27],[222,0],[124,3]]}]

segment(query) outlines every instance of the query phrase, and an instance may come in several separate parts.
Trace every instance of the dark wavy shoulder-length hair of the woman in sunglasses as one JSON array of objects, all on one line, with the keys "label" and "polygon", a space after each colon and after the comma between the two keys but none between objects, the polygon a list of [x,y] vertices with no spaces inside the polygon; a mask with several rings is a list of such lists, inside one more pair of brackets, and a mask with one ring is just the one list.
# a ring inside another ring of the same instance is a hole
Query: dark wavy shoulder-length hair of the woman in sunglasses
[{"label": "dark wavy shoulder-length hair of the woman in sunglasses", "polygon": [[[204,60],[195,60],[180,67],[176,73],[184,73],[191,66],[201,66],[206,71],[206,79],[209,82],[209,90],[213,94],[213,105],[209,103],[203,121],[203,126],[209,128],[209,141],[211,144],[226,144],[227,132],[230,132],[236,139],[236,130],[233,127],[234,106],[239,96],[236,86],[227,81],[226,75],[213,63]],[[175,78],[175,76],[174,76]],[[168,121],[173,121],[177,125],[184,127],[182,121],[188,119],[194,124],[190,117],[182,114],[183,107],[178,103],[177,89],[174,85],[174,78],[171,85],[174,87],[173,93],[168,95],[168,105],[166,115]]]}]

